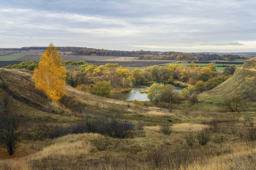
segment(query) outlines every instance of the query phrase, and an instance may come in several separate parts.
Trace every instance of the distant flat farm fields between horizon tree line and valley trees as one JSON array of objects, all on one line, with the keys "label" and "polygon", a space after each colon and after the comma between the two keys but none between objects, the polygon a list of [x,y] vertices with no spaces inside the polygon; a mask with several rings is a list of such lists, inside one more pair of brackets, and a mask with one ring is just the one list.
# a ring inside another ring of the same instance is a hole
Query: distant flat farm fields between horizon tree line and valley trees
[{"label": "distant flat farm fields between horizon tree line and valley trees", "polygon": [[[8,66],[16,63],[20,63],[21,61],[39,61],[42,53],[45,50],[16,50],[11,51],[9,55],[7,55],[8,51],[4,53],[1,51],[0,55],[0,66]],[[10,52],[10,51],[9,51]],[[105,63],[118,63],[121,66],[129,67],[131,69],[140,68],[145,66],[166,66],[170,64],[175,64],[176,61],[160,61],[160,60],[138,60],[137,57],[124,57],[124,56],[98,56],[98,55],[73,55],[71,51],[59,51],[61,55],[62,61],[86,61],[88,63],[94,65],[104,65]],[[2,62],[4,61],[4,62]],[[10,63],[6,62],[10,61]],[[13,61],[13,62],[12,62]],[[236,61],[216,61],[215,66],[218,71],[223,71],[226,66],[236,65],[240,66],[244,63],[246,59],[239,59]],[[178,61],[184,62],[184,61]],[[187,65],[189,65],[191,61],[188,61]],[[207,66],[211,61],[196,61],[196,66]],[[185,63],[184,63],[185,64]]]}]

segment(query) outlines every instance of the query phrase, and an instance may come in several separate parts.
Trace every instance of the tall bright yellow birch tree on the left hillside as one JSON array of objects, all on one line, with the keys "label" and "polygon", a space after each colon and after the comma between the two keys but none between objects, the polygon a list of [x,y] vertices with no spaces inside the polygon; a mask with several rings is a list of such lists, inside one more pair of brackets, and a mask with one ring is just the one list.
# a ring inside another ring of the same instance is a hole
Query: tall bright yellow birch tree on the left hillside
[{"label": "tall bright yellow birch tree on the left hillside", "polygon": [[37,89],[46,93],[52,101],[58,102],[66,91],[66,68],[62,66],[59,50],[50,44],[42,54],[39,66],[34,69],[32,81]]}]

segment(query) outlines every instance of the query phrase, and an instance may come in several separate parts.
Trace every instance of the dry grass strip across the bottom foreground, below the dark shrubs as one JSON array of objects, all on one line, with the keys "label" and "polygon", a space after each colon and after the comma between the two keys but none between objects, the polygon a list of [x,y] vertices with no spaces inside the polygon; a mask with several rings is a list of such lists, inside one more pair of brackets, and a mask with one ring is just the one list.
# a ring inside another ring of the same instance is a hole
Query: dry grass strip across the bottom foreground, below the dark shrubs
[{"label": "dry grass strip across the bottom foreground, below the dark shrubs", "polygon": [[[183,134],[146,130],[142,137],[112,139],[75,134],[53,139],[29,155],[0,161],[1,169],[255,169],[255,146],[216,142],[187,147]],[[227,141],[226,141],[227,140]],[[38,142],[34,145],[39,144]],[[25,146],[25,144],[24,144]],[[22,146],[20,146],[22,147]],[[177,155],[178,154],[178,155]]]}]

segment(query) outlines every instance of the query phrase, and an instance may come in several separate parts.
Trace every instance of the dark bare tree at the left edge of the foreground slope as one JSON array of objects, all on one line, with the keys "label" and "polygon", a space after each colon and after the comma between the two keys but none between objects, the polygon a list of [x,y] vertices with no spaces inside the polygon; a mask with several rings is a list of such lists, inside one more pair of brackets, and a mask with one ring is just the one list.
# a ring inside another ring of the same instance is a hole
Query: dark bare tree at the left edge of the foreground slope
[{"label": "dark bare tree at the left edge of the foreground slope", "polygon": [[9,155],[14,154],[23,130],[20,129],[21,119],[13,112],[10,96],[4,93],[0,104],[0,142],[6,145]]}]

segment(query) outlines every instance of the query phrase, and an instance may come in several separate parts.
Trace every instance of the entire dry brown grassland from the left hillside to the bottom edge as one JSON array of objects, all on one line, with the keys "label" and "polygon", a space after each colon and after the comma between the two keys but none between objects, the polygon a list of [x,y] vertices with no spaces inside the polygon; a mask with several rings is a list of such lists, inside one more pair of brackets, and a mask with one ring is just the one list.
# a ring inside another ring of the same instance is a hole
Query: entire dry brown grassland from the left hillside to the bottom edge
[{"label": "entire dry brown grassland from the left hillside to the bottom edge", "polygon": [[[22,115],[26,133],[15,155],[0,145],[0,169],[256,169],[256,110],[222,112],[218,102],[184,103],[170,112],[94,96],[67,86],[64,104],[53,104],[31,82],[32,72],[0,69]],[[64,107],[65,106],[65,107]],[[80,106],[82,111],[73,110]],[[124,139],[101,134],[67,134],[50,139],[42,127],[68,127],[86,116],[113,115],[132,123]],[[171,123],[170,123],[171,121]],[[164,130],[169,127],[170,134]],[[202,136],[207,144],[200,144]],[[192,144],[189,146],[189,144]]]}]

